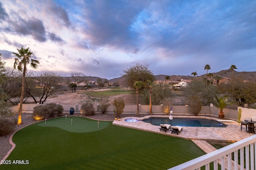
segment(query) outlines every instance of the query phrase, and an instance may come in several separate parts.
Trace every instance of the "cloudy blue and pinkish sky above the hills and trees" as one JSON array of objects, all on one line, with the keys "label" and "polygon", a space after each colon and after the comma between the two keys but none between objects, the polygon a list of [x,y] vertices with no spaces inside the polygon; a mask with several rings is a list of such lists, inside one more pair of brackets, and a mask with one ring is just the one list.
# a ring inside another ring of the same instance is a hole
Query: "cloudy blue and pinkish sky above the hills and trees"
[{"label": "cloudy blue and pinkish sky above the hills and trees", "polygon": [[[154,75],[256,71],[256,1],[0,0],[0,52],[13,66],[30,47],[36,70],[118,78],[149,64]],[[31,70],[31,68],[28,68]]]}]

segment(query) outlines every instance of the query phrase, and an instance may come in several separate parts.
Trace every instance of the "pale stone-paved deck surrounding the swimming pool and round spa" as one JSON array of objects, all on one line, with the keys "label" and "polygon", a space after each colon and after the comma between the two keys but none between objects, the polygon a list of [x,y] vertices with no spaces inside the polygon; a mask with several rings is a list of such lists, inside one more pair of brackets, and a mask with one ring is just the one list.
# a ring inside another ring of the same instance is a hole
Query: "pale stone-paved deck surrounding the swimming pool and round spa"
[{"label": "pale stone-paved deck surrounding the swimming pool and round spa", "polygon": [[[150,123],[145,123],[142,120],[148,119],[149,117],[165,117],[169,116],[164,115],[148,115],[145,117],[124,117],[120,121],[113,121],[113,125],[118,125],[122,127],[128,127],[132,129],[138,129],[142,131],[154,132],[163,135],[169,135],[173,137],[179,137],[182,139],[188,140],[213,140],[213,141],[222,141],[222,142],[236,142],[252,135],[254,133],[246,132],[246,129],[242,129],[241,124],[238,125],[236,121],[222,121],[223,124],[228,125],[227,127],[183,127],[182,131],[177,135],[176,133],[171,134],[171,131],[160,132],[160,126],[151,125]],[[204,117],[204,116],[180,116],[174,115],[175,118],[206,118],[220,121],[219,118],[215,117]],[[125,119],[134,118],[140,121],[137,122],[126,122]]]}]

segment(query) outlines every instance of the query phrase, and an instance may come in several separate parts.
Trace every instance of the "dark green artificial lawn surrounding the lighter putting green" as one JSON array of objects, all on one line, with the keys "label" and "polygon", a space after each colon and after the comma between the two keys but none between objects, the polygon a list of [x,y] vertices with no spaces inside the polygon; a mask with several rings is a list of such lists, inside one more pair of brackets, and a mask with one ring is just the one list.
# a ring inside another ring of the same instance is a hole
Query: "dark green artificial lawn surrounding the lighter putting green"
[{"label": "dark green artificial lawn surrounding the lighter putting green", "polygon": [[161,170],[204,155],[190,140],[119,127],[112,121],[104,129],[87,133],[40,123],[14,135],[16,147],[7,158],[11,162],[28,160],[29,164],[1,165],[1,170]]}]

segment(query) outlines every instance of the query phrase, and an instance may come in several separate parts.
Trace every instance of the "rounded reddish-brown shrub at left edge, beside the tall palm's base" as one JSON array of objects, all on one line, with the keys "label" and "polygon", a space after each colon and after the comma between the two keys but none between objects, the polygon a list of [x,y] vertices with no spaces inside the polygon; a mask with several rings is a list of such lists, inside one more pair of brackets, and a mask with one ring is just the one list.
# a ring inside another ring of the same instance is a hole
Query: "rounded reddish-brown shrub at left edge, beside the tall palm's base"
[{"label": "rounded reddish-brown shrub at left edge, beside the tall palm's base", "polygon": [[17,120],[10,117],[0,118],[0,136],[8,135],[15,129]]}]

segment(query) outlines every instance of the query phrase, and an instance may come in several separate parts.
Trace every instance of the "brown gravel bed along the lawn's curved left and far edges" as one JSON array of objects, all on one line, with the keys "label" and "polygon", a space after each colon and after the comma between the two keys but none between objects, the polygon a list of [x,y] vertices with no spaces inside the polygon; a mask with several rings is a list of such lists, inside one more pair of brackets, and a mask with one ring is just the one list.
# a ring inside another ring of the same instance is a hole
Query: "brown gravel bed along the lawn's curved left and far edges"
[{"label": "brown gravel bed along the lawn's curved left and far edges", "polygon": [[[63,116],[65,116],[66,114],[63,114]],[[144,117],[148,114],[140,114],[140,116],[136,116],[136,114],[121,114],[120,117]],[[67,116],[71,116],[70,114],[67,114]],[[80,113],[74,113],[74,115],[72,116],[81,116]],[[15,115],[15,117],[18,119],[18,114]],[[96,120],[102,120],[102,121],[112,121],[114,120],[114,114],[113,113],[96,113],[95,115],[92,116],[87,116],[90,119],[96,119]],[[15,131],[18,131],[19,129],[30,125],[32,123],[36,123],[36,121],[33,120],[32,118],[32,113],[22,113],[22,121],[23,124],[16,126]],[[0,160],[2,160],[4,158],[4,156],[6,156],[6,154],[8,153],[8,151],[12,148],[12,145],[9,143],[9,139],[10,136],[12,134],[10,133],[9,135],[6,136],[2,136],[0,137]]]}]

